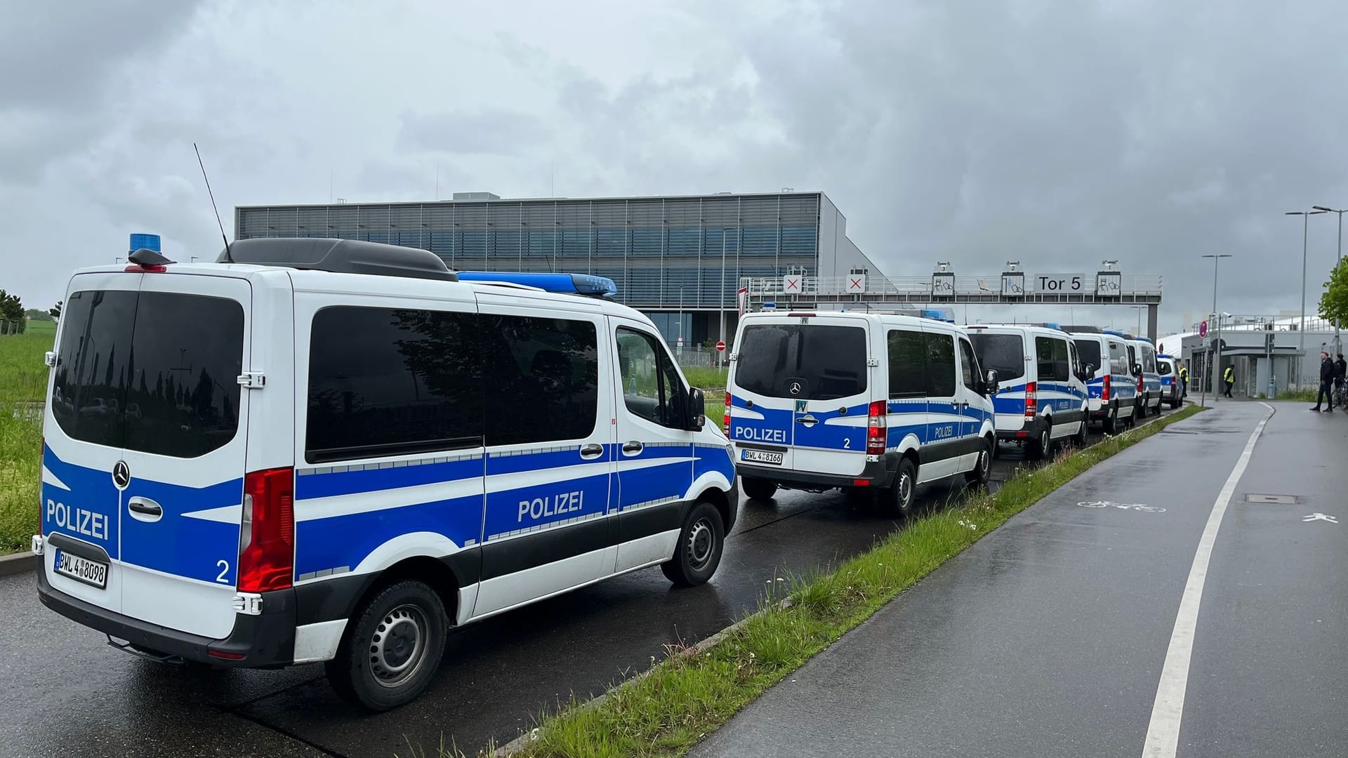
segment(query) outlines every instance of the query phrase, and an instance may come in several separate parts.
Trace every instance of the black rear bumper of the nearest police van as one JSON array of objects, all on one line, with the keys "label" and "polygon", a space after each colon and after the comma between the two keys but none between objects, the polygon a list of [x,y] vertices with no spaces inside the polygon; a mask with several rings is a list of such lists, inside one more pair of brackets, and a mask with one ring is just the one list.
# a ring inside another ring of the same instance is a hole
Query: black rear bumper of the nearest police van
[{"label": "black rear bumper of the nearest police van", "polygon": [[[115,614],[71,597],[53,588],[47,581],[46,566],[38,566],[38,599],[62,616],[140,647],[214,666],[257,669],[294,662],[295,591],[263,592],[262,597],[260,615],[237,614],[229,637],[210,639]],[[212,650],[229,654],[231,658],[210,655]]]}]

